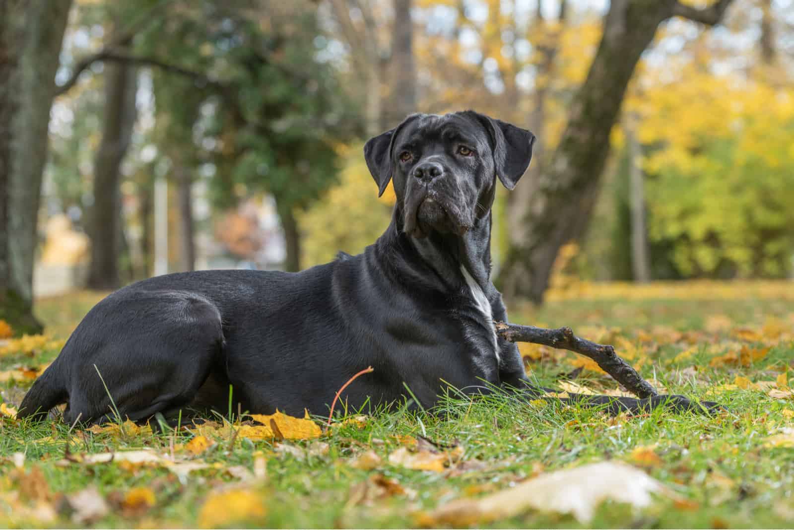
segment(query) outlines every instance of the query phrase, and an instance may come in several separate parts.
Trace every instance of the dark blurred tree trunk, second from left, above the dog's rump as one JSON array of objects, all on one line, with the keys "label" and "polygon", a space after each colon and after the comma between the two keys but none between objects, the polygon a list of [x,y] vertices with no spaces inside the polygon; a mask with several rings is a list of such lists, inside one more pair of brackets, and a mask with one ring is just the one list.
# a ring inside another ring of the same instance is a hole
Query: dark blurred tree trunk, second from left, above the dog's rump
[{"label": "dark blurred tree trunk, second from left, above the dog's rump", "polygon": [[104,127],[94,159],[94,205],[88,224],[91,237],[88,287],[96,290],[114,290],[119,286],[120,170],[136,115],[135,68],[124,63],[106,63],[105,68]]}]

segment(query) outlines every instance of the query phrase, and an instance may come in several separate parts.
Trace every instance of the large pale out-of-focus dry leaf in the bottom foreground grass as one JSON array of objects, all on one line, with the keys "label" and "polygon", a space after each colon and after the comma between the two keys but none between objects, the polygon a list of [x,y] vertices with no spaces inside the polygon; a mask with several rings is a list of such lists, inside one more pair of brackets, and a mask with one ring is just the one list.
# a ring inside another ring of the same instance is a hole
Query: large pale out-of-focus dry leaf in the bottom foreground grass
[{"label": "large pale out-of-focus dry leaf in the bottom foreground grass", "polygon": [[652,493],[672,495],[661,482],[628,464],[593,463],[541,474],[509,490],[480,499],[449,502],[423,518],[422,524],[487,524],[514,517],[528,509],[571,513],[587,524],[592,520],[595,509],[607,499],[644,508],[650,504]]}]

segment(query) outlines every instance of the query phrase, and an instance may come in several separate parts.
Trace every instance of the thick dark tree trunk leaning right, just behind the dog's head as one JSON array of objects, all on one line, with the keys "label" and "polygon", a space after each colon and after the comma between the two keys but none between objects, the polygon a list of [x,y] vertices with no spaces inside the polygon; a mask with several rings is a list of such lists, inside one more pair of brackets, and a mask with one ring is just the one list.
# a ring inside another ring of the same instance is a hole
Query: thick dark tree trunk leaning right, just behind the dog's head
[{"label": "thick dark tree trunk leaning right, just behind the dog's head", "polygon": [[526,296],[541,303],[557,252],[587,228],[612,126],[634,67],[658,25],[673,14],[713,25],[729,4],[719,0],[696,10],[675,0],[612,0],[598,51],[572,101],[557,149],[531,186],[525,237],[507,253],[499,278],[507,297]]}]

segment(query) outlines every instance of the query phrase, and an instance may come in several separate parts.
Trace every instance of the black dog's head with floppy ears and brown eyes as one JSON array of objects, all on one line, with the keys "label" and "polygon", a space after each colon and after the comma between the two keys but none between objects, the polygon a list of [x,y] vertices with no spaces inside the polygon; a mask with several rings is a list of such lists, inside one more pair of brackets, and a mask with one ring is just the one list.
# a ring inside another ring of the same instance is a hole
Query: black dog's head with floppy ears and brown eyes
[{"label": "black dog's head with floppy ears and brown eyes", "polygon": [[532,157],[526,129],[467,110],[413,114],[364,145],[367,166],[384,193],[394,183],[403,232],[463,235],[493,204],[496,177],[515,187]]}]

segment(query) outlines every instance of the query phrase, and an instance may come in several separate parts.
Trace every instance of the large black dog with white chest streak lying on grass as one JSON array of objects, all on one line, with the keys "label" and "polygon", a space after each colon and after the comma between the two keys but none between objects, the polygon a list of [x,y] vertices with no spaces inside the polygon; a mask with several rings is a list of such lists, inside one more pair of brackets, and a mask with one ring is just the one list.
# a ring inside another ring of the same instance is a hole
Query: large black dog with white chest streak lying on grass
[{"label": "large black dog with white chest streak lying on grass", "polygon": [[[33,384],[20,417],[68,403],[64,421],[145,421],[179,409],[292,415],[327,412],[336,391],[353,409],[410,394],[431,408],[445,386],[538,395],[518,348],[495,335],[507,321],[491,283],[495,179],[513,189],[530,163],[531,132],[472,111],[415,114],[369,140],[391,225],[363,254],[297,274],[202,271],[134,283],[99,302]],[[573,397],[576,399],[577,397]],[[665,400],[580,397],[611,412]]]}]

